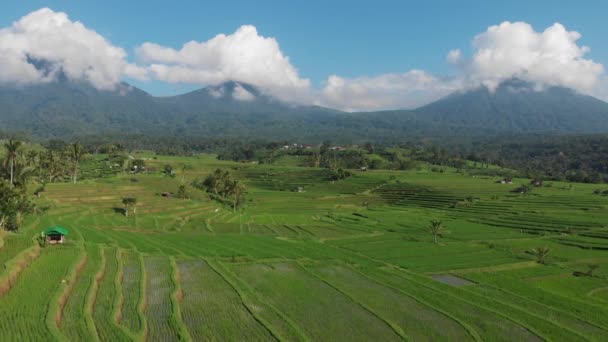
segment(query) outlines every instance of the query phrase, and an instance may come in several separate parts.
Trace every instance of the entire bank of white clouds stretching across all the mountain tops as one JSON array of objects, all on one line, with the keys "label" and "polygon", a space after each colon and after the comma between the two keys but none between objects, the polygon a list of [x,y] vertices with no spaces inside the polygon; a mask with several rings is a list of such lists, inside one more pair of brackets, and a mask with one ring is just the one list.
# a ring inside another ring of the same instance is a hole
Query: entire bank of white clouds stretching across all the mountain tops
[{"label": "entire bank of white clouds stretching across all the mountain tops", "polygon": [[[513,78],[538,89],[563,86],[606,99],[604,66],[587,58],[590,48],[579,45],[580,38],[559,23],[536,31],[528,23],[503,22],[473,38],[471,56],[449,51],[449,76],[417,69],[329,75],[316,87],[300,75],[275,38],[252,25],[179,48],[145,42],[129,58],[123,48],[66,13],[42,8],[0,29],[0,83],[69,79],[113,90],[125,77],[201,86],[234,80],[279,100],[349,111],[413,108],[454,91],[494,90]],[[248,101],[252,96],[243,89],[235,98]]]}]

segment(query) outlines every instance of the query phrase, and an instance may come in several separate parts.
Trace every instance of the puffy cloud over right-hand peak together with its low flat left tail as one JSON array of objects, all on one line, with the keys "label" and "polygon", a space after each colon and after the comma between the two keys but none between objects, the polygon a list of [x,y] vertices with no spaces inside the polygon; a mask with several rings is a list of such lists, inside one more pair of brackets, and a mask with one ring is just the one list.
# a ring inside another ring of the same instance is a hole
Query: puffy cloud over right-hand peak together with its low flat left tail
[{"label": "puffy cloud over right-hand peak together with its low flat left tail", "polygon": [[376,77],[342,78],[332,75],[322,90],[320,104],[344,110],[412,108],[450,92],[486,86],[495,90],[512,78],[531,82],[535,89],[563,86],[608,99],[603,65],[585,58],[578,32],[554,24],[536,32],[527,23],[491,26],[473,40],[473,56],[449,51],[446,61],[457,68],[450,77],[412,70]]}]

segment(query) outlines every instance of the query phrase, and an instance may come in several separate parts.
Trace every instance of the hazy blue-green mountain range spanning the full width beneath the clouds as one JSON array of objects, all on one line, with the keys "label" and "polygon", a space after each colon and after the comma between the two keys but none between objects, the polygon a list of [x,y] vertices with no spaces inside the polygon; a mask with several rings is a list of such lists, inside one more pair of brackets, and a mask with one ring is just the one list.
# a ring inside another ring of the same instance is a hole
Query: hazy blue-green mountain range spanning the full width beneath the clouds
[{"label": "hazy blue-green mountain range spanning the full width beneath the clouds", "polygon": [[534,89],[517,79],[494,92],[480,87],[414,110],[346,113],[291,105],[242,82],[153,97],[122,84],[117,91],[58,81],[0,87],[5,132],[33,138],[151,134],[357,142],[406,136],[608,132],[608,104],[563,87]]}]

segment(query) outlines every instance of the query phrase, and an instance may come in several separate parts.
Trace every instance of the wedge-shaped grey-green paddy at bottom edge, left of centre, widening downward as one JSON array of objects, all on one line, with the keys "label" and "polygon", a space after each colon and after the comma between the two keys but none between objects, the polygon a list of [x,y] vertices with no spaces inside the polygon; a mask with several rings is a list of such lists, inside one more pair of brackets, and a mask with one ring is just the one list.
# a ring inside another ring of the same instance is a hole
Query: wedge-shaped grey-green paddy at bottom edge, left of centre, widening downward
[{"label": "wedge-shaped grey-green paddy at bottom edge, left of centre, widening downward", "polygon": [[195,341],[268,341],[273,337],[235,292],[205,261],[177,262],[182,318]]}]

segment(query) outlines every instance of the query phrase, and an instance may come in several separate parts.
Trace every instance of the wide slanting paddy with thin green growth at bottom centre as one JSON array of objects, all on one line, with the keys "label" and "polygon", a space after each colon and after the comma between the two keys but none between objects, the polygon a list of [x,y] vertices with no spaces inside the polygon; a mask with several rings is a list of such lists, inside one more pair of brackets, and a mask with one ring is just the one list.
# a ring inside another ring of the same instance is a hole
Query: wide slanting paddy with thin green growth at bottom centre
[{"label": "wide slanting paddy with thin green growth at bottom centre", "polygon": [[[246,264],[232,269],[265,302],[296,322],[313,340],[401,339],[374,313],[295,263]],[[315,305],[310,305],[312,302]]]}]

